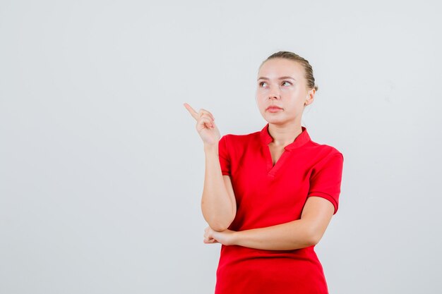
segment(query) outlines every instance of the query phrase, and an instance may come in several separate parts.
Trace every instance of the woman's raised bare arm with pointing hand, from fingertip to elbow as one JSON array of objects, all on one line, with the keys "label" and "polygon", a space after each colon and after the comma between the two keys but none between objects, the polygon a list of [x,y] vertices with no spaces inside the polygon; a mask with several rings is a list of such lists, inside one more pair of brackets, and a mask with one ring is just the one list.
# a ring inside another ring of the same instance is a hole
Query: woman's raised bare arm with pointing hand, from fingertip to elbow
[{"label": "woman's raised bare arm with pointing hand, from fingertip to elbow", "polygon": [[189,104],[184,104],[196,120],[196,130],[204,143],[205,176],[201,210],[205,221],[213,231],[224,231],[230,226],[237,214],[232,181],[223,176],[218,154],[220,131],[215,125],[215,118],[205,109],[196,112]]}]

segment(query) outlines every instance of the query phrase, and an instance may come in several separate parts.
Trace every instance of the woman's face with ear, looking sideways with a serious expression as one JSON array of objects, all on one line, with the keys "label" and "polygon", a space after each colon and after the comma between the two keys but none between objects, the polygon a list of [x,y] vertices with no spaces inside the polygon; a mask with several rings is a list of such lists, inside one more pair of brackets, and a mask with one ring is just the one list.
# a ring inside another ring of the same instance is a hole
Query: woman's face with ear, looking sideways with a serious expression
[{"label": "woman's face with ear, looking sideways with a serious expression", "polygon": [[[301,124],[302,111],[313,102],[314,89],[307,90],[304,67],[287,59],[265,61],[258,71],[256,104],[268,123]],[[279,109],[269,109],[277,106]]]}]

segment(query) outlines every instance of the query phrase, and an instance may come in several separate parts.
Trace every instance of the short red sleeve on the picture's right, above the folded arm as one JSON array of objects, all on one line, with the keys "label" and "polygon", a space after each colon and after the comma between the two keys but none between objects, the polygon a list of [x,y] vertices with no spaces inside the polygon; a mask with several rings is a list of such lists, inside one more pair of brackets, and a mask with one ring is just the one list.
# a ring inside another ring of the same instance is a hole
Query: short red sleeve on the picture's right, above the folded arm
[{"label": "short red sleeve on the picture's right, above the folded arm", "polygon": [[329,200],[335,207],[333,214],[338,212],[343,163],[342,153],[334,153],[318,162],[310,177],[310,188],[307,197],[318,196]]}]

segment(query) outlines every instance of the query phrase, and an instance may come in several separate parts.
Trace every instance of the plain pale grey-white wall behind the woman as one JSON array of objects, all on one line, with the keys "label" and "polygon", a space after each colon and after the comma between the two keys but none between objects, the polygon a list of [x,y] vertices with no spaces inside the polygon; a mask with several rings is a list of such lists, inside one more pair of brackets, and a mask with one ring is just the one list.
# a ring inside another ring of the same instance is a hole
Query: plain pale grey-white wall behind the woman
[{"label": "plain pale grey-white wall behind the woman", "polygon": [[303,124],[345,158],[330,294],[440,293],[440,5],[0,0],[0,293],[213,293],[183,103],[261,130],[280,50],[310,61]]}]

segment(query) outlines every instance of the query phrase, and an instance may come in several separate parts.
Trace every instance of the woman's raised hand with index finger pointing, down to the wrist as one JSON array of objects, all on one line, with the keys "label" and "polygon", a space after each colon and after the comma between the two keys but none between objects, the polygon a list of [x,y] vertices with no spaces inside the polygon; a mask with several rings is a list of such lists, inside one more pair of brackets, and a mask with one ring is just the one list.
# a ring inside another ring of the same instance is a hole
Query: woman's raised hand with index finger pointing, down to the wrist
[{"label": "woman's raised hand with index finger pointing, down to the wrist", "polygon": [[193,108],[184,103],[184,107],[196,120],[196,131],[203,140],[204,145],[217,145],[220,141],[220,130],[215,125],[215,118],[205,109],[196,112]]}]

